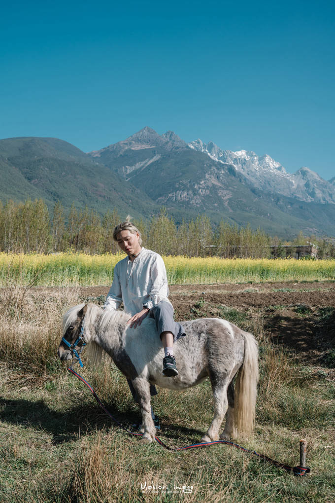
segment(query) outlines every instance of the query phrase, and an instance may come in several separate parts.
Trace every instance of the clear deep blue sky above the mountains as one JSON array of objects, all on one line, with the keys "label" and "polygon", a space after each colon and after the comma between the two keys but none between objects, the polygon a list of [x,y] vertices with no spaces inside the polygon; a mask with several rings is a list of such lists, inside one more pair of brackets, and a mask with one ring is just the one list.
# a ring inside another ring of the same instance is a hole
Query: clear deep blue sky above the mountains
[{"label": "clear deep blue sky above the mountains", "polygon": [[334,11],[323,0],[8,4],[0,138],[90,151],[150,126],[328,180]]}]

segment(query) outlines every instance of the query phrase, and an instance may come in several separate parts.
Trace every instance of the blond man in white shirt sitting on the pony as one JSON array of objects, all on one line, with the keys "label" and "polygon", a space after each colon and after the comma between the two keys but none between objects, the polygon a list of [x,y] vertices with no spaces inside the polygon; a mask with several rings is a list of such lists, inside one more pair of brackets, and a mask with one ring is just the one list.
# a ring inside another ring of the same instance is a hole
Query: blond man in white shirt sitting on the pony
[{"label": "blond man in white shirt sitting on the pony", "polygon": [[[166,377],[178,375],[173,354],[173,343],[185,335],[184,328],[173,319],[173,306],[168,300],[169,287],[162,257],[142,247],[140,231],[127,217],[117,225],[113,238],[128,255],[118,262],[114,269],[113,284],[107,295],[104,309],[118,309],[123,302],[125,311],[131,315],[128,323],[131,328],[141,325],[146,316],[154,318],[157,332],[164,347],[163,374]],[[141,341],[139,341],[141,344]],[[135,401],[135,389],[128,381]],[[151,395],[156,395],[155,386],[150,387]],[[158,427],[158,418],[152,411]]]}]

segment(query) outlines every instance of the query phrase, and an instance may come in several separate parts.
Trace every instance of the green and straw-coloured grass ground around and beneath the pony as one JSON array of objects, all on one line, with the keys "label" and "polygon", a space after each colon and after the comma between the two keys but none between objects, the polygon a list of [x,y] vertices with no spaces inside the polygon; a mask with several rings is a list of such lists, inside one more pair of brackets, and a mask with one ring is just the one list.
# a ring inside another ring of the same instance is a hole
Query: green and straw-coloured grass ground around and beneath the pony
[{"label": "green and straw-coloured grass ground around and beneath the pony", "polygon": [[[229,446],[176,453],[129,437],[57,360],[61,315],[82,301],[79,290],[24,285],[11,275],[0,300],[2,502],[334,500],[334,384],[322,369],[270,344],[261,312],[222,307],[216,313],[253,332],[260,344],[255,435],[238,443],[295,466],[299,440],[306,438],[311,473],[303,478]],[[190,316],[201,315],[203,304],[195,302]],[[138,419],[114,366],[99,372],[85,366],[82,375],[123,424]],[[180,393],[159,390],[153,402],[170,445],[199,441],[210,423],[207,381]]]}]

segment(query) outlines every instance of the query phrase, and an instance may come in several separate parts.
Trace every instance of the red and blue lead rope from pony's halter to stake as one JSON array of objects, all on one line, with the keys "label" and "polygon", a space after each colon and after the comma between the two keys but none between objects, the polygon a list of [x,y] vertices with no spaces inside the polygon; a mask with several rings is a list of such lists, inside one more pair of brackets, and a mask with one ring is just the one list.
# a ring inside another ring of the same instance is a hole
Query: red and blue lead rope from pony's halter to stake
[{"label": "red and blue lead rope from pony's halter to stake", "polygon": [[[127,428],[125,428],[113,415],[110,414],[110,412],[106,409],[106,407],[101,402],[100,398],[95,393],[92,386],[81,375],[79,375],[75,370],[73,370],[72,367],[68,367],[67,370],[69,372],[71,372],[71,374],[75,375],[79,379],[79,381],[82,381],[85,384],[85,386],[90,390],[90,392],[92,393],[92,395],[94,396],[95,400],[100,405],[102,410],[110,417],[110,419],[112,421],[114,421],[114,423],[119,425],[122,430],[129,433],[130,435],[135,435],[135,437],[142,437],[142,435],[143,435],[142,433],[134,433],[134,432],[131,432],[130,430],[127,430]],[[260,459],[263,459],[264,461],[267,461],[268,463],[271,463],[272,465],[277,466],[278,468],[283,468],[284,470],[286,470],[288,472],[292,472],[294,475],[299,475],[301,477],[301,476],[306,475],[306,473],[310,472],[310,468],[302,467],[302,466],[285,465],[283,463],[280,463],[279,461],[275,461],[274,459],[269,458],[265,454],[259,454],[256,451],[246,449],[245,447],[242,447],[241,445],[238,445],[238,444],[235,444],[234,442],[229,442],[226,440],[216,440],[213,442],[201,442],[199,444],[191,444],[191,445],[186,445],[184,447],[169,447],[168,445],[164,444],[164,442],[162,442],[162,440],[159,437],[155,437],[155,440],[158,444],[160,444],[165,449],[168,449],[169,451],[185,451],[186,449],[196,449],[197,447],[207,447],[207,446],[215,445],[215,444],[226,444],[226,445],[230,445],[232,447],[236,447],[237,449],[241,449],[241,451],[248,452],[250,454],[255,454]]]}]

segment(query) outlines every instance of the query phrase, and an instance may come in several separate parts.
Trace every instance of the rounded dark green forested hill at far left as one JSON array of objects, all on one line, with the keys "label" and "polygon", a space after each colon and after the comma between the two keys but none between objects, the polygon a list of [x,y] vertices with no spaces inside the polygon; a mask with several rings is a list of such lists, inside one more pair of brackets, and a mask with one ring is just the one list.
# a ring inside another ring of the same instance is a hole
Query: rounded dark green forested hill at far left
[{"label": "rounded dark green forested hill at far left", "polygon": [[42,198],[53,206],[88,206],[99,213],[133,208],[147,215],[156,208],[141,191],[92,160],[87,154],[56,138],[0,140],[0,199],[22,201]]}]

